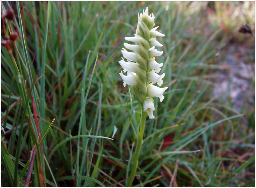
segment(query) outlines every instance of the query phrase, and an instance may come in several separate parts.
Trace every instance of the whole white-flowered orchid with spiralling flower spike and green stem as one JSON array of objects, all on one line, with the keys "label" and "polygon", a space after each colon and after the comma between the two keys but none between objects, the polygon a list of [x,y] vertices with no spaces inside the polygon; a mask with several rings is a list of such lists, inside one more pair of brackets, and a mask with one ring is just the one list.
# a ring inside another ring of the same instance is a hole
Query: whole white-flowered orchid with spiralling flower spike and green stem
[{"label": "whole white-flowered orchid with spiralling flower spike and green stem", "polygon": [[[127,183],[128,187],[132,185],[137,170],[146,118],[148,116],[149,119],[155,118],[153,115],[153,111],[155,110],[154,99],[152,97],[159,97],[160,102],[162,102],[164,99],[163,92],[168,89],[168,87],[160,88],[153,85],[157,83],[158,86],[161,86],[164,77],[164,73],[162,75],[157,74],[163,64],[155,61],[155,56],[161,56],[163,54],[163,52],[155,49],[156,46],[162,46],[156,40],[156,37],[163,37],[164,34],[156,31],[158,27],[154,27],[154,25],[154,14],[151,13],[149,15],[147,7],[145,11],[143,10],[143,13],[138,14],[138,25],[135,36],[125,37],[126,40],[135,42],[135,44],[124,43],[125,48],[133,52],[128,52],[123,48],[122,54],[127,59],[127,62],[123,58],[119,61],[124,69],[120,73],[124,81],[124,87],[126,84],[133,86],[135,97],[142,105],[140,129],[137,129],[137,145],[133,156],[131,178]],[[125,75],[123,72],[127,72],[127,74]]]}]

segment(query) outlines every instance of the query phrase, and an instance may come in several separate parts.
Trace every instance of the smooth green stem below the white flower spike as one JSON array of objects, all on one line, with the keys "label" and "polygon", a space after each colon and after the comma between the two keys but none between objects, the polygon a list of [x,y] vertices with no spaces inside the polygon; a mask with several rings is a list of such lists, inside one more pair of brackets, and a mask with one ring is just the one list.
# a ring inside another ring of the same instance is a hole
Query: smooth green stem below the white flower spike
[{"label": "smooth green stem below the white flower spike", "polygon": [[[143,107],[141,110],[141,123],[140,123],[140,130],[137,131],[137,135],[138,135],[138,139],[137,139],[137,145],[136,145],[136,150],[134,153],[134,159],[133,159],[133,164],[132,164],[132,170],[131,170],[131,174],[130,174],[130,178],[128,180],[128,187],[131,187],[132,182],[134,180],[134,176],[138,167],[138,159],[139,159],[139,153],[140,153],[140,149],[142,148],[142,143],[143,143],[143,134],[144,134],[144,129],[145,129],[145,122],[146,122],[146,118],[147,118],[147,113],[143,112]],[[138,125],[139,126],[139,125]]]}]

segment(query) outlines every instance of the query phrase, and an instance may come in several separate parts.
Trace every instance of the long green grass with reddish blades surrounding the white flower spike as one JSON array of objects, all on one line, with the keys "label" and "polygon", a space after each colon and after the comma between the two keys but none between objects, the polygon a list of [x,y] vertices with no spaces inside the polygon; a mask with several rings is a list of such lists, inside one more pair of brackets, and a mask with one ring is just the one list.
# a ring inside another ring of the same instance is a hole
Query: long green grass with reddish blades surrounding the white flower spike
[{"label": "long green grass with reddish blades surrounding the white flower spike", "polygon": [[18,33],[1,48],[2,186],[126,185],[140,105],[123,87],[118,61],[147,6],[165,34],[157,62],[169,88],[155,103],[156,118],[146,120],[133,185],[254,185],[254,112],[212,94],[210,75],[224,69],[217,56],[231,40],[207,14],[209,7],[225,13],[219,4],[1,5],[15,14],[3,18],[1,40]]}]

